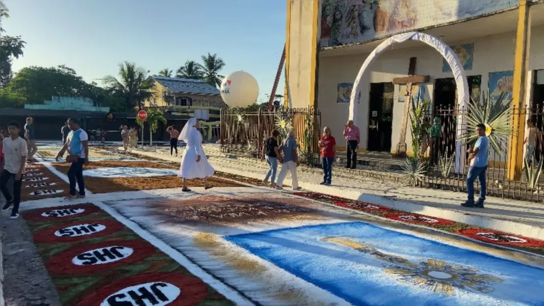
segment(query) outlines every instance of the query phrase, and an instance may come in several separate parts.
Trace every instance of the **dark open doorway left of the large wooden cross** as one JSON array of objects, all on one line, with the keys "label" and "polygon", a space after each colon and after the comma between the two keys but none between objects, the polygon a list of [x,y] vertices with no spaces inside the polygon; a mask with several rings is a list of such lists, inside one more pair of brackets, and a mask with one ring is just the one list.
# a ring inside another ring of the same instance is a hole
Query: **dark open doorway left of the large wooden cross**
[{"label": "dark open doorway left of the large wooden cross", "polygon": [[391,152],[393,83],[371,83],[368,108],[368,151]]}]

